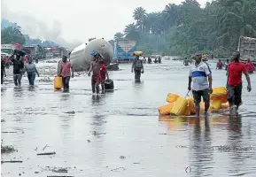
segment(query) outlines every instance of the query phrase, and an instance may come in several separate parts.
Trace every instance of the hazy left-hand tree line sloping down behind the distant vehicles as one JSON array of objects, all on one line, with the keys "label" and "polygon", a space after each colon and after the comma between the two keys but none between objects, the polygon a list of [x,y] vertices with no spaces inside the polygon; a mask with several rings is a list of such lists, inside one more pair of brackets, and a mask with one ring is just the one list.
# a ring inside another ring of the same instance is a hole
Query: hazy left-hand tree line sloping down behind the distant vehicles
[{"label": "hazy left-hand tree line sloping down behind the distant vehicles", "polygon": [[1,43],[8,44],[12,42],[20,45],[41,45],[43,47],[57,47],[58,44],[51,41],[42,41],[40,39],[32,39],[29,35],[23,35],[21,27],[17,23],[12,23],[6,19],[1,22]]}]

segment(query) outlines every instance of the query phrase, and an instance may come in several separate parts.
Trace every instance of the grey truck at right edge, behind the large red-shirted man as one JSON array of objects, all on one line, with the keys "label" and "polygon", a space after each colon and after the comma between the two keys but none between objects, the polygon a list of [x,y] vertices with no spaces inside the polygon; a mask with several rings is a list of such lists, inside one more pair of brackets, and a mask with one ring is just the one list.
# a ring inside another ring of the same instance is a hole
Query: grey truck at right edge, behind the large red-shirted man
[{"label": "grey truck at right edge, behind the large red-shirted man", "polygon": [[250,58],[256,67],[256,38],[240,36],[237,51],[242,62],[245,63]]}]

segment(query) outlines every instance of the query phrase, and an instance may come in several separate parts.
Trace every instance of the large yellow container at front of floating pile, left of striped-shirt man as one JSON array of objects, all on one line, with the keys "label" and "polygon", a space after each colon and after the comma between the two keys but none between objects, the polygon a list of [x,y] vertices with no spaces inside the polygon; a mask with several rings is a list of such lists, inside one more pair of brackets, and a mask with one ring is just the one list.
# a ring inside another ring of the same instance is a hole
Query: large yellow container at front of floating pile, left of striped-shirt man
[{"label": "large yellow container at front of floating pile, left of striped-shirt man", "polygon": [[178,97],[175,101],[174,106],[172,107],[170,113],[175,114],[176,116],[182,116],[187,108],[188,100],[183,98],[182,96]]}]

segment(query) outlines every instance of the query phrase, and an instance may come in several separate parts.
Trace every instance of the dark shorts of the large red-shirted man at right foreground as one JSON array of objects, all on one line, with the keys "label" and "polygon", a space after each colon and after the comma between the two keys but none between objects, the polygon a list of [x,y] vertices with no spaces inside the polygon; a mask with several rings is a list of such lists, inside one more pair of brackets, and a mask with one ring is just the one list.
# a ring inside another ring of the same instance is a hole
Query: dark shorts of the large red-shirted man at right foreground
[{"label": "dark shorts of the large red-shirted man at right foreground", "polygon": [[242,89],[243,84],[239,84],[236,87],[228,85],[228,101],[229,104],[240,105],[242,104]]}]

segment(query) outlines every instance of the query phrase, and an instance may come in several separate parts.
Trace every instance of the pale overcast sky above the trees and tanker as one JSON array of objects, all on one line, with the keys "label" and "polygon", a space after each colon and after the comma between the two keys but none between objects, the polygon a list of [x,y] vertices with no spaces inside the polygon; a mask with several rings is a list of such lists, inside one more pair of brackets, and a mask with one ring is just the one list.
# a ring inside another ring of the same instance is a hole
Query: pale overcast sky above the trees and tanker
[{"label": "pale overcast sky above the trees and tanker", "polygon": [[[198,0],[205,6],[212,0]],[[164,10],[182,0],[1,0],[2,18],[16,21],[24,33],[61,44],[87,42],[90,37],[112,39],[122,32],[136,7]]]}]

